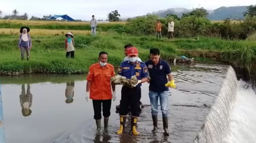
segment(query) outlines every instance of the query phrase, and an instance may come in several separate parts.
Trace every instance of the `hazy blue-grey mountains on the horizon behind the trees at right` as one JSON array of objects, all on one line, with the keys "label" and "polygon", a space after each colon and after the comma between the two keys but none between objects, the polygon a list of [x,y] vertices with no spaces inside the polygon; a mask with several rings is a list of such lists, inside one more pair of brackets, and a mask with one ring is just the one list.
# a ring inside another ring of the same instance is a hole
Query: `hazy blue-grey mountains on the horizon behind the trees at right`
[{"label": "hazy blue-grey mountains on the horizon behind the trees at right", "polygon": [[[244,19],[244,12],[247,10],[247,6],[231,6],[231,7],[225,7],[222,6],[220,8],[217,8],[215,10],[207,10],[209,13],[208,18],[210,20],[223,20],[226,18],[230,19]],[[165,10],[159,10],[157,12],[152,12],[152,14],[157,14],[160,17],[165,17],[166,14],[175,14],[179,17],[182,16],[183,13],[189,13],[193,9],[186,9],[186,8],[169,8]]]}]

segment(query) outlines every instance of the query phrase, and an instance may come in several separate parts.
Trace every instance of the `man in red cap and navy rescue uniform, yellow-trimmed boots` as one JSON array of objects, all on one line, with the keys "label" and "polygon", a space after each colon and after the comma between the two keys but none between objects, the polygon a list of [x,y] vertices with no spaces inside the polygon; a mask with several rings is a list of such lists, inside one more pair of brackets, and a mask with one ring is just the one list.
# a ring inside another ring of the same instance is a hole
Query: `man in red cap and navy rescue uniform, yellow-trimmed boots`
[{"label": "man in red cap and navy rescue uniform, yellow-trimmed boots", "polygon": [[138,50],[135,47],[129,48],[127,51],[129,60],[124,61],[118,67],[118,74],[131,79],[132,76],[136,75],[138,82],[132,87],[123,85],[121,90],[121,103],[120,103],[120,129],[117,134],[122,134],[126,115],[128,114],[128,106],[131,108],[131,129],[134,135],[139,133],[136,131],[137,119],[139,117],[139,105],[141,98],[141,83],[148,81],[148,68],[145,63],[138,61]]}]

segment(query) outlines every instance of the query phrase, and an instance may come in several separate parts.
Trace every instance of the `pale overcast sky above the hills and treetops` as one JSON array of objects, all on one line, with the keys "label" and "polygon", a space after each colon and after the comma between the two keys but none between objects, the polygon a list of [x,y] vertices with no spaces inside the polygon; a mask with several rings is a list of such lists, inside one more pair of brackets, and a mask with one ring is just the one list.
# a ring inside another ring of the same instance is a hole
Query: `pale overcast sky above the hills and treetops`
[{"label": "pale overcast sky above the hills and treetops", "polygon": [[183,7],[187,9],[204,7],[216,9],[221,6],[245,6],[256,4],[255,0],[0,0],[3,15],[17,9],[19,14],[42,17],[49,14],[68,14],[73,19],[106,19],[107,13],[118,10],[121,17],[133,17],[168,8]]}]

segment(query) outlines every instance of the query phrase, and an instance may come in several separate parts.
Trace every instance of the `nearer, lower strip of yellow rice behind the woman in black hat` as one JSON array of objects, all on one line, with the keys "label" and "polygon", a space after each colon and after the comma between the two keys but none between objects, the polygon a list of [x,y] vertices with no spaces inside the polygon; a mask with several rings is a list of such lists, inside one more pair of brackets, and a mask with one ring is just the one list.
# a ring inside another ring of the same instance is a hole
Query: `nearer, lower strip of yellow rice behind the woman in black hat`
[{"label": "nearer, lower strip of yellow rice behind the woman in black hat", "polygon": [[[31,36],[60,36],[65,35],[67,32],[72,32],[74,35],[91,35],[91,30],[51,30],[51,29],[30,29]],[[18,28],[0,28],[2,35],[19,35],[20,29]],[[106,32],[98,32],[97,34],[105,35]]]}]

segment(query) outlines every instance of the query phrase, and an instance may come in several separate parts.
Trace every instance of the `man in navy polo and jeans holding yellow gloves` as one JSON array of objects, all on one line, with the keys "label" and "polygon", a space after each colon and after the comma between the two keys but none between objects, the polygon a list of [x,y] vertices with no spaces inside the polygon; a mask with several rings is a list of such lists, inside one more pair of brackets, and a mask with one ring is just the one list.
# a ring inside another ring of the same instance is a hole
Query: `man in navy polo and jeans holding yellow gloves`
[{"label": "man in navy polo and jeans holding yellow gloves", "polygon": [[[158,97],[163,118],[164,134],[169,135],[168,131],[168,87],[174,85],[174,80],[171,75],[171,67],[166,62],[160,59],[160,50],[157,48],[150,49],[151,60],[145,62],[148,67],[150,79],[149,84],[149,98],[151,104],[151,114],[154,128],[152,132],[157,132],[157,114],[158,114]],[[167,82],[169,77],[170,83]]]}]

